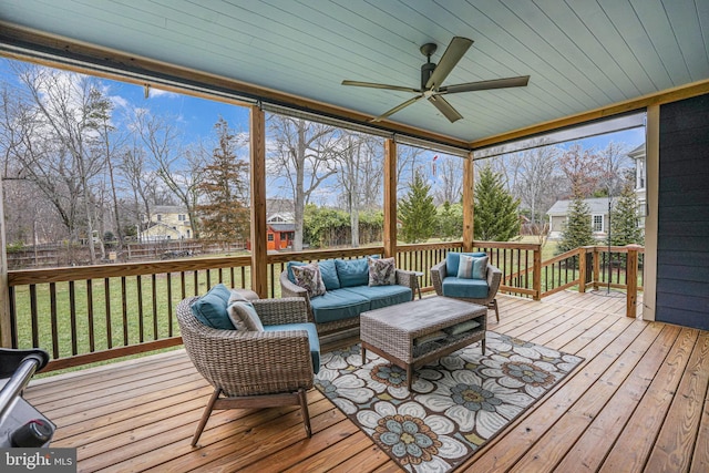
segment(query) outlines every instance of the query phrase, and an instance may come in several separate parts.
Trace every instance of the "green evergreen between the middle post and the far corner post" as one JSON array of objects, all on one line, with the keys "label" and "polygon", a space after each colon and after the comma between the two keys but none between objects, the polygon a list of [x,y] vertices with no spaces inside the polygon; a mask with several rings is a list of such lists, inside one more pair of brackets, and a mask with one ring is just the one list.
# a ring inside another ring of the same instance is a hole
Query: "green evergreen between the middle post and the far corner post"
[{"label": "green evergreen between the middle post and the far corner post", "polygon": [[405,197],[399,200],[398,215],[401,220],[399,236],[405,243],[425,241],[436,228],[436,212],[431,186],[417,173],[409,185]]}]

